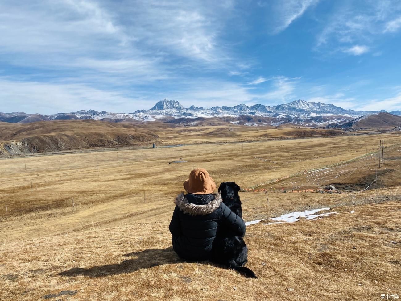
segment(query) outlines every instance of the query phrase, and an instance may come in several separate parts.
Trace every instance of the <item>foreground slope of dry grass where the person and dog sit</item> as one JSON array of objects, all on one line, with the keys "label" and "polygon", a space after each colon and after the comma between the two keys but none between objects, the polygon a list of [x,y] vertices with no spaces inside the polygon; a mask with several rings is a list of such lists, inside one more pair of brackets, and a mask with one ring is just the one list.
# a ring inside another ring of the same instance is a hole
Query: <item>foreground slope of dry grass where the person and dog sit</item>
[{"label": "foreground slope of dry grass where the person and dog sit", "polygon": [[[36,300],[76,290],[68,300],[379,300],[382,293],[399,292],[401,285],[401,189],[377,194],[362,193],[358,202],[352,194],[332,195],[324,205],[336,206],[338,214],[321,220],[248,226],[248,266],[256,280],[210,262],[181,262],[169,248],[171,212],[133,225],[93,225],[5,243],[0,298]],[[298,208],[313,203],[292,200]],[[249,205],[243,205],[247,214]]]}]

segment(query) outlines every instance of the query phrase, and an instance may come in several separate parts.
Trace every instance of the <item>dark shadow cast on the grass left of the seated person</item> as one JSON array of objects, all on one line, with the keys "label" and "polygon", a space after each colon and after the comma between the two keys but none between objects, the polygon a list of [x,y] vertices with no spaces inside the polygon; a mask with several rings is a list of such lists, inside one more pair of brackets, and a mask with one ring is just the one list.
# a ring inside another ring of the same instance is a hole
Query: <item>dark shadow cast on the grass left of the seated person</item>
[{"label": "dark shadow cast on the grass left of the seated person", "polygon": [[137,257],[136,259],[127,259],[121,263],[106,264],[101,266],[92,266],[91,268],[70,268],[59,273],[60,276],[78,276],[103,277],[109,275],[131,273],[141,268],[152,268],[169,263],[184,262],[181,260],[172,247],[165,249],[147,249],[140,252],[131,252],[124,254],[125,257]]}]

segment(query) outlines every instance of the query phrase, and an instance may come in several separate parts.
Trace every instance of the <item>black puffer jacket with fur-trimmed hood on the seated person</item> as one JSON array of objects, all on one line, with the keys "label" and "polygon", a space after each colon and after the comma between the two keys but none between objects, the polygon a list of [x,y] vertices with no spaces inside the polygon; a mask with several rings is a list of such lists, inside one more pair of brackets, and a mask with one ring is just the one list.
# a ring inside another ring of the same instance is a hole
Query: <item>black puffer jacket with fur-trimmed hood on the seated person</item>
[{"label": "black puffer jacket with fur-trimmed hood on the seated person", "polygon": [[233,231],[235,236],[245,235],[244,221],[231,212],[219,193],[195,195],[179,194],[170,222],[174,251],[186,260],[207,260],[216,237],[217,224]]}]

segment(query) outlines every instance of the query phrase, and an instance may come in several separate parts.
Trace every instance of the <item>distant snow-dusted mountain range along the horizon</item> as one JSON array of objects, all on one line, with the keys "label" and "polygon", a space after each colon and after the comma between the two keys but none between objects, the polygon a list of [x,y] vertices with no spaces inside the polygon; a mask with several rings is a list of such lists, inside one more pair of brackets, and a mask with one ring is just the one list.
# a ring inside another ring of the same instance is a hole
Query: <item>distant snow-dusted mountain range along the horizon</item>
[{"label": "distant snow-dusted mountain range along the horizon", "polygon": [[[233,107],[215,106],[205,109],[197,106],[185,108],[176,100],[165,98],[155,104],[150,110],[137,110],[133,113],[110,113],[106,111],[81,110],[69,113],[52,115],[26,114],[21,112],[0,113],[0,121],[10,123],[30,123],[48,120],[76,120],[94,119],[108,122],[149,122],[159,120],[183,125],[196,125],[205,118],[219,118],[222,122],[231,124],[245,124],[249,126],[280,124],[299,124],[303,126],[327,126],[341,124],[354,118],[377,114],[381,111],[354,111],[346,110],[332,104],[321,102],[306,102],[294,100],[288,104],[265,106],[255,104],[247,106],[239,104]],[[387,113],[387,112],[386,112]],[[401,115],[400,111],[390,112]]]}]

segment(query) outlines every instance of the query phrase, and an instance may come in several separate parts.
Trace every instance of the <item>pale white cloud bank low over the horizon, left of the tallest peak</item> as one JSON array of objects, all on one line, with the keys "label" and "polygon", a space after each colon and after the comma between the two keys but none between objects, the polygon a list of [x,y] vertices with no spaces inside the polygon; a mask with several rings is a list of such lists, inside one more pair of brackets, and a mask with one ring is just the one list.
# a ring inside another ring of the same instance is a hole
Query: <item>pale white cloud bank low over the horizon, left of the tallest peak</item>
[{"label": "pale white cloud bank low over the horizon, left of the tallest peak", "polygon": [[[0,78],[2,112],[13,112],[15,108],[25,113],[55,114],[82,109],[109,110],[116,107],[125,112],[149,107],[146,98],[127,96],[121,89],[98,89],[80,83],[43,83],[38,81],[10,81]],[[147,106],[146,106],[147,104]],[[149,107],[150,108],[150,107]]]}]

